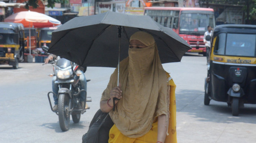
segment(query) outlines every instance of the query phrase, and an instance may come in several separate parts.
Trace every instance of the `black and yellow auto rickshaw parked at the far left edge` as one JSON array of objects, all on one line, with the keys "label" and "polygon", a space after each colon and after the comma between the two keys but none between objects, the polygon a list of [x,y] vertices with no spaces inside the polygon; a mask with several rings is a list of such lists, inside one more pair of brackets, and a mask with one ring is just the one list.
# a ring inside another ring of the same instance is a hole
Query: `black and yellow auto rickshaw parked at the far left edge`
[{"label": "black and yellow auto rickshaw parked at the far left edge", "polygon": [[21,23],[0,22],[0,63],[18,69],[24,58],[24,26]]}]

